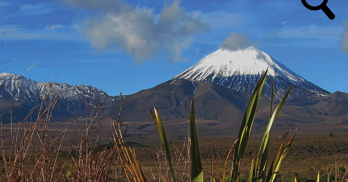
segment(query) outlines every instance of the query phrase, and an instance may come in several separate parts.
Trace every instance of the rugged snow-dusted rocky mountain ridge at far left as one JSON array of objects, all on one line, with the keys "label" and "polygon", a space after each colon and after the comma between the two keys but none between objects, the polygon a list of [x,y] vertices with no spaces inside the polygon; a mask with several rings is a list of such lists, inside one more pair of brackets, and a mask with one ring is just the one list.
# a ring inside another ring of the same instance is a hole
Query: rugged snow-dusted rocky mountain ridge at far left
[{"label": "rugged snow-dusted rocky mountain ridge at far left", "polygon": [[105,98],[104,104],[107,105],[118,99],[118,97],[109,96],[92,86],[41,83],[4,72],[0,74],[0,112],[3,122],[7,123],[9,120],[11,98],[15,121],[22,121],[29,111],[40,105],[42,98],[48,95],[59,98],[54,110],[57,118],[78,118],[86,115],[86,101],[94,102],[94,100],[99,101],[99,99]]}]

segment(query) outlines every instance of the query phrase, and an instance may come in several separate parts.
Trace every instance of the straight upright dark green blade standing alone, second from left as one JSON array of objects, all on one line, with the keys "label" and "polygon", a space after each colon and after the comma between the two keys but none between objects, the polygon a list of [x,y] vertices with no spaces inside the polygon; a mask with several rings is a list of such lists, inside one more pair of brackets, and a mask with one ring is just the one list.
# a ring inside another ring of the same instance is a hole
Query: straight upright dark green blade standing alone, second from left
[{"label": "straight upright dark green blade standing alone, second from left", "polygon": [[190,140],[191,140],[191,182],[203,182],[203,167],[200,160],[198,138],[196,131],[194,99],[191,100],[190,112]]}]

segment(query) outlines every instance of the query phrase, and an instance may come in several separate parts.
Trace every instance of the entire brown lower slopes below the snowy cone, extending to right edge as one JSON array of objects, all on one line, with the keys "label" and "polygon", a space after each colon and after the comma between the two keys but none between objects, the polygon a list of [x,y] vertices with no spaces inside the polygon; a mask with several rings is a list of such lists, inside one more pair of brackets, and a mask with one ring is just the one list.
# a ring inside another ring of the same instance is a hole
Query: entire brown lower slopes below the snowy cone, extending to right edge
[{"label": "entire brown lower slopes below the snowy cone, extending to right edge", "polygon": [[[332,99],[327,99],[331,95],[324,100],[315,101],[317,104],[311,106],[294,106],[287,103],[283,106],[277,118],[275,128],[282,130],[299,127],[306,131],[317,132],[322,130],[325,125],[341,124],[343,121],[346,121],[344,118],[347,118],[345,114],[347,114],[348,99],[344,99],[343,95],[345,93],[339,95],[341,99],[339,99],[338,103],[346,103],[346,105],[333,106],[340,107],[339,113],[336,113],[335,110],[329,112],[326,111],[329,108],[321,103],[327,105],[335,104],[336,102]],[[190,99],[193,96],[195,97],[197,125],[201,122],[200,135],[203,136],[226,136],[236,133],[250,99],[249,96],[243,93],[209,81],[178,79],[173,82],[173,80],[169,80],[153,88],[127,95],[124,98],[122,118],[127,123],[132,123],[129,124],[129,131],[143,133],[137,133],[139,136],[156,135],[158,133],[149,113],[149,109],[155,106],[165,123],[166,131],[171,133],[172,136],[180,137],[187,133]],[[110,116],[114,111],[118,111],[119,104],[119,101],[112,103],[107,108],[105,115]],[[274,104],[273,110],[276,105],[277,103]],[[255,119],[254,129],[256,128],[256,132],[263,132],[265,124],[268,122],[269,114],[270,99],[261,99]],[[329,128],[332,130],[335,126],[326,127],[328,130]],[[344,130],[342,127],[340,129]]]}]

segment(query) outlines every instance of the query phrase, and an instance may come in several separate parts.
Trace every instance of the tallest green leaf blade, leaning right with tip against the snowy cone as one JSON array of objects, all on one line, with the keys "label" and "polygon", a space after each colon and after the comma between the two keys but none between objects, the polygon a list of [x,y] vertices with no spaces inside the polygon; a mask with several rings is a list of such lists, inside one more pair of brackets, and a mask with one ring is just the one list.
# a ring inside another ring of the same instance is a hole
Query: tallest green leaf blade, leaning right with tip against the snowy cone
[{"label": "tallest green leaf blade, leaning right with tip against the snowy cone", "polygon": [[242,159],[242,156],[244,155],[244,152],[245,152],[246,144],[249,139],[250,131],[254,122],[256,109],[259,104],[262,88],[267,77],[267,71],[268,69],[263,73],[260,80],[256,84],[256,87],[251,96],[251,99],[246,107],[242,124],[240,125],[240,129],[238,133],[239,141],[236,143],[234,156],[232,159],[233,160],[232,171],[230,174],[231,181],[238,181],[239,162],[240,162],[240,159]]}]

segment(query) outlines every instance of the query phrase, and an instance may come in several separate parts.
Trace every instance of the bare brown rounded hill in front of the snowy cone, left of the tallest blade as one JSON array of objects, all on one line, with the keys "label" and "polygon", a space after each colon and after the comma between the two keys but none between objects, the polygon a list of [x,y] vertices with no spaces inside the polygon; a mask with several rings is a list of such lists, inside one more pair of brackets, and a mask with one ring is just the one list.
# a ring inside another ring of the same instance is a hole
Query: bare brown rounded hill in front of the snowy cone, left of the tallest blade
[{"label": "bare brown rounded hill in front of the snowy cone, left of the tallest blade", "polygon": [[[195,96],[196,118],[231,120],[239,118],[247,96],[209,81],[169,80],[153,88],[141,90],[124,98],[123,119],[152,121],[149,109],[159,111],[163,121],[189,118],[191,98]],[[107,108],[110,115],[119,108],[119,101]],[[234,113],[234,114],[230,114]]]}]

